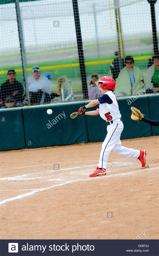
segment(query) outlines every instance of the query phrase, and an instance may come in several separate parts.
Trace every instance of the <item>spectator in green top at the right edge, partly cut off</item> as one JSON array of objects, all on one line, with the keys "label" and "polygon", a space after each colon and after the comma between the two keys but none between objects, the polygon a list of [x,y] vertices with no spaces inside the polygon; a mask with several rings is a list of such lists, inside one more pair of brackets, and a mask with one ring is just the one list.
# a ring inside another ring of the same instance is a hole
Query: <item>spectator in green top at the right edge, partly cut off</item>
[{"label": "spectator in green top at the right edge, partly cut off", "polygon": [[152,57],[153,65],[148,68],[146,74],[146,93],[159,92],[159,54]]}]

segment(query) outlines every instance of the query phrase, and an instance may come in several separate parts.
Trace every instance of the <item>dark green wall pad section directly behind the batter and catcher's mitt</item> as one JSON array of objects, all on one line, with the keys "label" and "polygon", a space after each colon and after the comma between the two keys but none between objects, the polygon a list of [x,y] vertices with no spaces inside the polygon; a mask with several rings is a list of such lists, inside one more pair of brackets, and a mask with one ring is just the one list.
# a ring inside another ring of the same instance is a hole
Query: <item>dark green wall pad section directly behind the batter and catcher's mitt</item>
[{"label": "dark green wall pad section directly behind the batter and catcher's mitt", "polygon": [[[140,110],[146,114],[147,118],[150,118],[149,113],[149,100],[148,97],[140,97],[130,105],[129,98],[119,99],[119,110],[121,113],[121,118],[124,124],[124,129],[121,134],[122,139],[140,138],[152,136],[151,125],[140,121],[131,120],[131,110],[130,107],[134,106],[140,108]],[[87,104],[87,103],[86,103]],[[97,108],[90,108],[89,110],[95,110]],[[107,134],[107,124],[106,122],[98,116],[86,116],[88,125],[88,137],[90,142],[104,141]]]}]

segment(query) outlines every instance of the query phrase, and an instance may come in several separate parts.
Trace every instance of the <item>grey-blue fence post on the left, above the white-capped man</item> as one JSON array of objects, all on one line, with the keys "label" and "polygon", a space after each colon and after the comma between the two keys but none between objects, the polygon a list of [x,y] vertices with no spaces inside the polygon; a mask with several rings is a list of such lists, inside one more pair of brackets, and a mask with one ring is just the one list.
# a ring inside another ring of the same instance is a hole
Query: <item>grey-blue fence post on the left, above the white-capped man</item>
[{"label": "grey-blue fence post on the left, above the white-capped man", "polygon": [[27,82],[27,68],[26,68],[26,60],[25,60],[25,50],[24,50],[24,40],[23,40],[23,33],[22,33],[22,23],[21,23],[19,0],[15,0],[15,9],[16,9],[17,26],[18,26],[18,36],[19,36],[19,44],[20,44],[20,55],[21,55],[21,63],[22,63],[24,88],[25,88],[25,95],[27,96],[27,99],[25,99],[25,103],[27,105],[30,105],[28,82]]}]

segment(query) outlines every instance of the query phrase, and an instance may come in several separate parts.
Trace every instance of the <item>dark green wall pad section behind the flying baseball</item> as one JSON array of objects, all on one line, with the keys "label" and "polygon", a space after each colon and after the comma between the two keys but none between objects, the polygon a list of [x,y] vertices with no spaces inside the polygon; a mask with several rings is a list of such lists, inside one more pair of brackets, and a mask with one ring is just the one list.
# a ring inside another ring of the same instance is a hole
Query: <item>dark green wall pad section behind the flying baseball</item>
[{"label": "dark green wall pad section behind the flying baseball", "polygon": [[[87,143],[86,117],[70,118],[81,105],[84,103],[23,108],[27,148]],[[48,108],[51,115],[46,113]]]}]

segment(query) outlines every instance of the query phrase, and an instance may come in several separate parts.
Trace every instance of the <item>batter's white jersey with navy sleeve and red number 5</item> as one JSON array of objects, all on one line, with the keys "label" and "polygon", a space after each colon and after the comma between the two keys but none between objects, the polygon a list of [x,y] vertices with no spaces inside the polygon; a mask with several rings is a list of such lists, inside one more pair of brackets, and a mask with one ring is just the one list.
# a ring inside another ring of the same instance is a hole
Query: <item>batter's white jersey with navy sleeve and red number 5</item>
[{"label": "batter's white jersey with navy sleeve and red number 5", "polygon": [[117,99],[112,91],[108,91],[98,99],[99,114],[105,121],[114,121],[121,118]]}]

